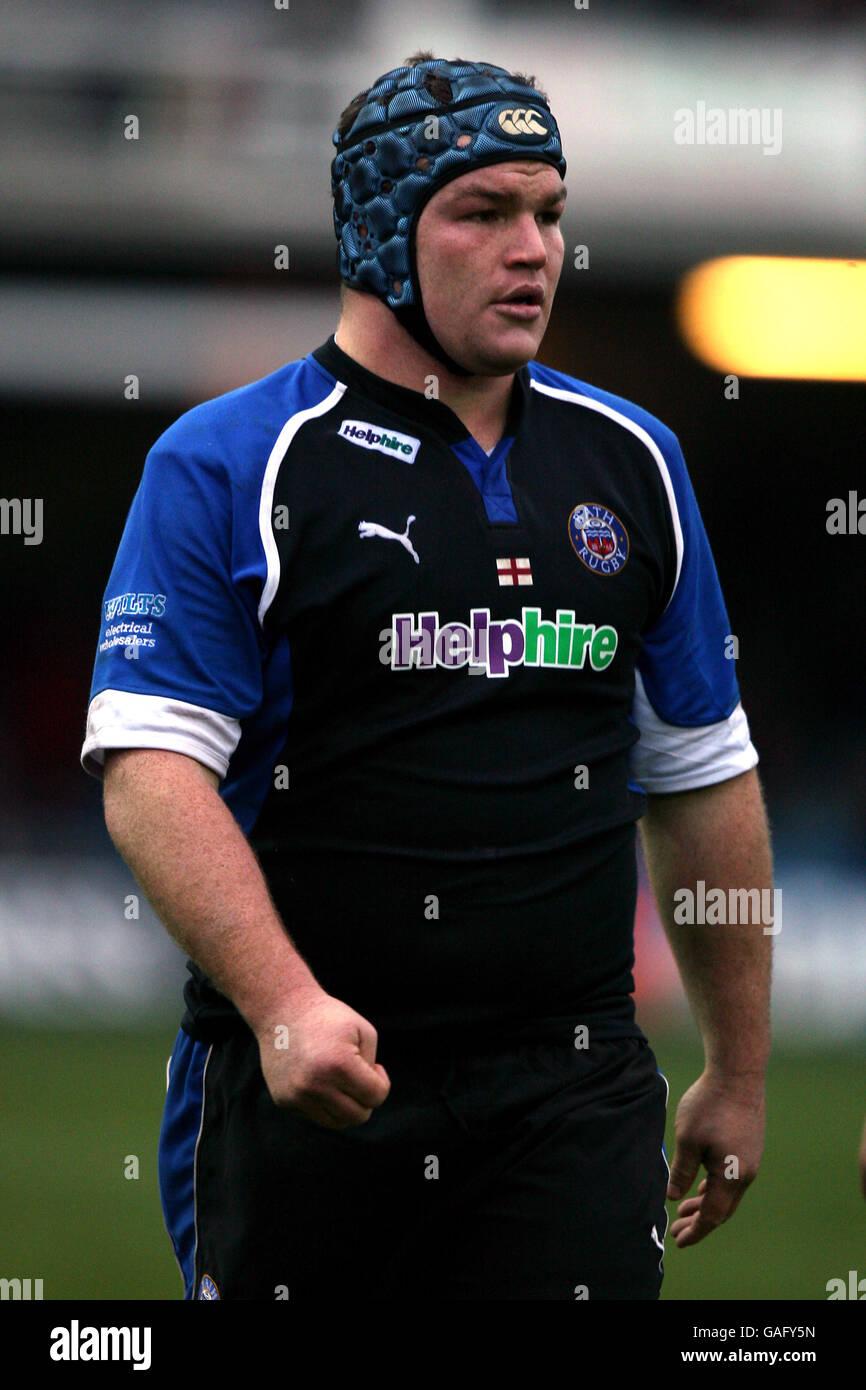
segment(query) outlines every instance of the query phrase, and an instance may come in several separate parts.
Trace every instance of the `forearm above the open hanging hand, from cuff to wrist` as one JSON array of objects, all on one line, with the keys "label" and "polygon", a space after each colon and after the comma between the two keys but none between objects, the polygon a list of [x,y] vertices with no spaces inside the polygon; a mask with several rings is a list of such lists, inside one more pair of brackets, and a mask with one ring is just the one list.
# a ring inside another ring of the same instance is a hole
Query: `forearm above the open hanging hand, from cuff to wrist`
[{"label": "forearm above the open hanging hand, from cuff to wrist", "polygon": [[[770,844],[758,774],[752,770],[716,787],[651,796],[641,833],[659,912],[703,1038],[708,1069],[760,1079],[770,1049],[774,929],[763,912],[755,922],[753,912],[724,910],[728,905],[738,909],[745,905],[737,890],[758,890],[749,899],[751,908],[773,902]],[[710,890],[723,891],[724,906],[717,897],[719,910],[702,913]],[[689,903],[696,910],[688,912]],[[694,920],[702,915],[710,920]],[[713,923],[714,915],[721,917],[719,923]],[[731,922],[731,916],[740,920]]]}]

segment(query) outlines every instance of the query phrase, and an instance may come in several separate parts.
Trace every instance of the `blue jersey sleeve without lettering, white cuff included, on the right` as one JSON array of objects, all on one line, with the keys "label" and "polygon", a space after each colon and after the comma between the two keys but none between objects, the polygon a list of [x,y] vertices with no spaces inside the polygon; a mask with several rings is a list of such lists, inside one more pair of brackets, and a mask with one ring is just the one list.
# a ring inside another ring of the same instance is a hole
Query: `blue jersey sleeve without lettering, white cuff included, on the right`
[{"label": "blue jersey sleeve without lettering, white cuff included, on the right", "polygon": [[630,774],[646,792],[692,791],[758,763],[735,673],[737,641],[676,436],[663,461],[677,570],[667,607],[644,635]]}]

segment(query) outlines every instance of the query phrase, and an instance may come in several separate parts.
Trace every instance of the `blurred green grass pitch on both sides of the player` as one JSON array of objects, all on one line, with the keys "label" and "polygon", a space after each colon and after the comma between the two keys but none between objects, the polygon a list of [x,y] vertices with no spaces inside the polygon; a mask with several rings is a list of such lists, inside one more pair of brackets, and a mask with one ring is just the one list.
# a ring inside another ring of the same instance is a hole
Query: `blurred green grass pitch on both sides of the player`
[{"label": "blurred green grass pitch on both sides of the player", "polygon": [[[0,1276],[40,1277],[46,1298],[181,1297],[157,1190],[174,1031],[0,1031]],[[651,1040],[670,1081],[670,1156],[676,1102],[701,1055],[691,1037],[655,1029]],[[866,1275],[865,1101],[853,1052],[777,1049],[760,1176],[701,1245],[667,1243],[663,1297],[823,1301],[828,1279]],[[128,1155],[138,1179],[124,1176]]]}]

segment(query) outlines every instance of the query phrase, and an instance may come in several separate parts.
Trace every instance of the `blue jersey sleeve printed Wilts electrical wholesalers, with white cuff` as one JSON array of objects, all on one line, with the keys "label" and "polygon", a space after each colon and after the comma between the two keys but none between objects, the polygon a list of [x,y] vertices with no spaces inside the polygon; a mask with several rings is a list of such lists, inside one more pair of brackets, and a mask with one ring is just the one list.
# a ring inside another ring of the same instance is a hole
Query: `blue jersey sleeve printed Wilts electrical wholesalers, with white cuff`
[{"label": "blue jersey sleeve printed Wilts electrical wholesalers, with white cuff", "polygon": [[106,589],[81,752],[96,777],[106,749],[161,748],[222,778],[261,702],[257,516],[235,514],[247,489],[188,421],[147,455]]}]

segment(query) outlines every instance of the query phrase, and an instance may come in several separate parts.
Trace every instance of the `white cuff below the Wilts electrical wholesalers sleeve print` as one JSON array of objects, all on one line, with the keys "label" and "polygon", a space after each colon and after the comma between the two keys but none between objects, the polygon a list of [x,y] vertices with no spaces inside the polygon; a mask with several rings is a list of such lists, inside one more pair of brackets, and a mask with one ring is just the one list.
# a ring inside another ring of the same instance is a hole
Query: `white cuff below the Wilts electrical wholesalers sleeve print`
[{"label": "white cuff below the Wilts electrical wholesalers sleeve print", "polygon": [[186,753],[221,778],[240,739],[240,721],[167,695],[107,689],[90,701],[81,762],[101,777],[107,748],[161,748]]}]

